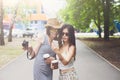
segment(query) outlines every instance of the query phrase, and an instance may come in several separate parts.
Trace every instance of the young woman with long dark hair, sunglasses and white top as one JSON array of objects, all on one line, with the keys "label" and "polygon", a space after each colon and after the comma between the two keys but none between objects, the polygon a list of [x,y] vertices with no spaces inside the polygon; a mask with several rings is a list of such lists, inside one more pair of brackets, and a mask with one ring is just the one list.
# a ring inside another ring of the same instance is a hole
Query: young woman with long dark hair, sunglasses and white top
[{"label": "young woman with long dark hair, sunglasses and white top", "polygon": [[[76,43],[74,28],[70,24],[64,24],[59,32],[59,48],[52,46],[59,59],[59,80],[78,80],[74,61],[76,55]],[[53,69],[53,66],[51,66]]]}]

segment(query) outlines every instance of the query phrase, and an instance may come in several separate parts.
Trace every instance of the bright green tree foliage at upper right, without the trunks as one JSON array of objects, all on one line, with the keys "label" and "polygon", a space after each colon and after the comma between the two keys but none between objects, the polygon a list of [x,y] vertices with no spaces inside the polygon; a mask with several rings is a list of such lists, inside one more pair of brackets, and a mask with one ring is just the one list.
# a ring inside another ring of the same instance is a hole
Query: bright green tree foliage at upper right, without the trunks
[{"label": "bright green tree foliage at upper right, without the trunks", "polygon": [[[98,27],[104,24],[103,0],[66,0],[67,6],[59,12],[63,22],[73,24],[83,31],[93,19]],[[117,2],[118,3],[118,2]],[[120,20],[120,5],[110,0],[110,29],[114,29],[113,20]]]}]

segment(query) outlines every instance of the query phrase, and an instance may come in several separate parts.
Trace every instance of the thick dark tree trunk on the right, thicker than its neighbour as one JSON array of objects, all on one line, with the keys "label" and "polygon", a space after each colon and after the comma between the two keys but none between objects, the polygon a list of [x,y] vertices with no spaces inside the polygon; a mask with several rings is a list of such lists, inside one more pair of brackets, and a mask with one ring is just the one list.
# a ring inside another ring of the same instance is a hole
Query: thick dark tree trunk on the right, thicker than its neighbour
[{"label": "thick dark tree trunk on the right, thicker than its neighbour", "polygon": [[110,0],[104,0],[104,39],[109,40],[109,11]]}]

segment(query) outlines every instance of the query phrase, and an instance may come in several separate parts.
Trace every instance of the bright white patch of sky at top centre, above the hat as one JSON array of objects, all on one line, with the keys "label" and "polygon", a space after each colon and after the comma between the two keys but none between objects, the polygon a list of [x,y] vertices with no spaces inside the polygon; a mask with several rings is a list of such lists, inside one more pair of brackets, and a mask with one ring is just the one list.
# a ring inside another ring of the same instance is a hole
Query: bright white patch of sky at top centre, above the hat
[{"label": "bright white patch of sky at top centre, above the hat", "polygon": [[56,13],[65,6],[65,0],[41,0],[48,18],[56,17]]}]

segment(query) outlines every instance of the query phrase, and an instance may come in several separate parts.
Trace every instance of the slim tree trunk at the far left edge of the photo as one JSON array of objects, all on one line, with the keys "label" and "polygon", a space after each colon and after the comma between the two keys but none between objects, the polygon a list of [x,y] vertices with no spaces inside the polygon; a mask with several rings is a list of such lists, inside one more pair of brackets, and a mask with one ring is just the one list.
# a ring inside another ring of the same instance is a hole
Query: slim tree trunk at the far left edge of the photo
[{"label": "slim tree trunk at the far left edge of the photo", "polygon": [[5,45],[4,32],[3,32],[3,6],[2,0],[0,0],[0,45]]}]

